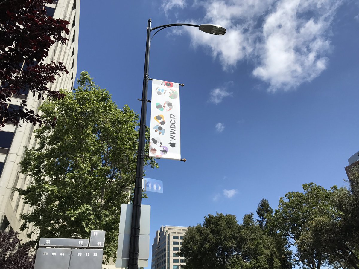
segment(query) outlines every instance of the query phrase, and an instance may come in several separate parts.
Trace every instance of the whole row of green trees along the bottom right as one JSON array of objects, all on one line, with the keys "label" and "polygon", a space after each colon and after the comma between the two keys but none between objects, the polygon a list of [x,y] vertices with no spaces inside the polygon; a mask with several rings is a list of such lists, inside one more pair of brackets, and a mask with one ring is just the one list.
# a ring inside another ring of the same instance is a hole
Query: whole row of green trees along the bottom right
[{"label": "whole row of green trees along the bottom right", "polygon": [[[258,219],[217,213],[188,227],[180,255],[184,269],[359,269],[359,171],[348,188],[303,184],[273,211],[263,198]],[[292,249],[294,253],[292,253]]]}]

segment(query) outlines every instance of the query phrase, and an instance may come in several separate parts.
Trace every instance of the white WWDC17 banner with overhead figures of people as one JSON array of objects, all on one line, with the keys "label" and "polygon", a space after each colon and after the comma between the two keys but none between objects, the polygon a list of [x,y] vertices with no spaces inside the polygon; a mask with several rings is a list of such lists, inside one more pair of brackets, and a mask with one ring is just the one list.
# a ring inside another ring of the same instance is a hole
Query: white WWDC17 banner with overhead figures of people
[{"label": "white WWDC17 banner with overhead figures of people", "polygon": [[152,80],[151,157],[181,160],[180,85]]}]

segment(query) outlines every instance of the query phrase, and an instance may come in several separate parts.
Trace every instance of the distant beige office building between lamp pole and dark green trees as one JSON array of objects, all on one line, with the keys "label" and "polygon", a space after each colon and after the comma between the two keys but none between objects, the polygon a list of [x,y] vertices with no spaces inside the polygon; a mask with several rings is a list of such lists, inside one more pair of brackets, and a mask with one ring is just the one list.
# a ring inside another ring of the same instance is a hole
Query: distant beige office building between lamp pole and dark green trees
[{"label": "distant beige office building between lamp pole and dark green trees", "polygon": [[156,232],[152,245],[152,269],[181,269],[185,259],[177,255],[187,227],[162,226]]}]

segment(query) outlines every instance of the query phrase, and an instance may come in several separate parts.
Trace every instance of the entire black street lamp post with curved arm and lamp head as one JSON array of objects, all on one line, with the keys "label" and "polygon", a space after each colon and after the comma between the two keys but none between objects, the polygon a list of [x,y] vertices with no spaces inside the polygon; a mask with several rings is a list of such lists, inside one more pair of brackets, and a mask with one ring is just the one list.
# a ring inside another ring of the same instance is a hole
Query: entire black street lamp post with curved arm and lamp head
[{"label": "entire black street lamp post with curved arm and lamp head", "polygon": [[155,36],[160,30],[172,26],[193,26],[199,28],[202,32],[223,36],[226,29],[220,25],[215,24],[188,24],[188,23],[173,23],[165,24],[155,28],[151,28],[151,19],[148,19],[147,26],[147,39],[146,39],[146,53],[145,53],[145,70],[143,75],[143,88],[141,99],[141,116],[140,116],[140,135],[137,150],[137,165],[136,165],[136,181],[134,190],[134,200],[132,209],[132,222],[131,222],[131,237],[130,237],[130,252],[129,252],[129,269],[138,269],[138,250],[140,240],[140,216],[141,216],[141,199],[142,199],[142,179],[143,179],[143,166],[145,155],[145,134],[146,134],[146,114],[147,114],[147,90],[148,90],[148,69],[150,57],[150,42],[151,32],[157,30],[152,37]]}]

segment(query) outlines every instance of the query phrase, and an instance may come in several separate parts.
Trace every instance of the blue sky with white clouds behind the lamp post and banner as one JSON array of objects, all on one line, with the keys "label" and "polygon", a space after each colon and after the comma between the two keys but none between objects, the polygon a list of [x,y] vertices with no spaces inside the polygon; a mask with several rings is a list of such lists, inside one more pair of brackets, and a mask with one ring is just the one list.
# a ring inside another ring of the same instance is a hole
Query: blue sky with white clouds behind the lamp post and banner
[{"label": "blue sky with white clouds behind the lamp post and banner", "polygon": [[81,1],[78,75],[88,71],[119,107],[137,112],[148,18],[153,27],[227,28],[220,37],[172,27],[152,41],[149,76],[185,84],[187,162],[159,160],[159,169],[146,170],[163,180],[163,194],[143,200],[151,205],[151,244],[161,225],[196,225],[215,212],[241,220],[263,197],[276,208],[303,183],[345,184],[347,159],[359,151],[357,2],[98,3]]}]

